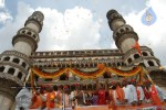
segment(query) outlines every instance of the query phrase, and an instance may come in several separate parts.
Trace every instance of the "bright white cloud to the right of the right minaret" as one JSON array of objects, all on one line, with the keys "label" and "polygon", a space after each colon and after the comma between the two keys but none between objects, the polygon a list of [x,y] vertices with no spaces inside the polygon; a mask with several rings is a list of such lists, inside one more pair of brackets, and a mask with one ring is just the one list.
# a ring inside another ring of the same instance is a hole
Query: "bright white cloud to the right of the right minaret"
[{"label": "bright white cloud to the right of the right minaret", "polygon": [[126,22],[131,24],[139,36],[139,44],[149,46],[155,55],[166,65],[166,1],[165,0],[149,0],[147,8],[152,7],[157,15],[157,20],[153,25],[144,25],[141,21],[143,13],[147,8],[141,12],[132,12],[124,16]]}]

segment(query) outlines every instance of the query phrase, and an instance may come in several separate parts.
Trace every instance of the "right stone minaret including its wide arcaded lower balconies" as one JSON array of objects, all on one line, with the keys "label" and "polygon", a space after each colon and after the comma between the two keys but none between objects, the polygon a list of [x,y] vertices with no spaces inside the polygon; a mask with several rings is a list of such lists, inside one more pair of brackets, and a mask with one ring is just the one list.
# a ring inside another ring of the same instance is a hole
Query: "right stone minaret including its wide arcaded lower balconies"
[{"label": "right stone minaret including its wide arcaded lower balconies", "polygon": [[147,46],[141,46],[142,56],[133,48],[138,35],[133,28],[126,24],[123,16],[116,10],[110,10],[106,14],[108,25],[113,31],[113,38],[116,46],[124,53],[124,63],[128,66],[142,63],[149,70],[157,69],[159,59],[154,56],[153,51]]}]

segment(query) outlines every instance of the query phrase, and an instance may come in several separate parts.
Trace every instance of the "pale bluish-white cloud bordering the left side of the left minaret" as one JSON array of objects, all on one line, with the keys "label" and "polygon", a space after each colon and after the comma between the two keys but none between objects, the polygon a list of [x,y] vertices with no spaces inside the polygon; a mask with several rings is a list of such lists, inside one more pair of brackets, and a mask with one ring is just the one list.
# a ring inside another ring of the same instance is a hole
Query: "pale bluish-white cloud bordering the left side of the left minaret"
[{"label": "pale bluish-white cloud bordering the left side of the left minaret", "polygon": [[19,2],[18,6],[18,15],[12,20],[7,21],[0,29],[0,52],[12,48],[12,37],[17,34],[18,30],[23,28],[24,21],[33,12],[33,10],[23,2]]}]

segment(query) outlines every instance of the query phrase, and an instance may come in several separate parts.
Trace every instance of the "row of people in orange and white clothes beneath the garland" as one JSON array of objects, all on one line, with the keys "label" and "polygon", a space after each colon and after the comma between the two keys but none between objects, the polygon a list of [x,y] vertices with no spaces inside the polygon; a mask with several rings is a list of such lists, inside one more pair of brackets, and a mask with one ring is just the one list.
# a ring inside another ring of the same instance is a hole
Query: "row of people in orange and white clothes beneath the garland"
[{"label": "row of people in orange and white clothes beneath the garland", "polygon": [[[111,84],[108,86],[108,84]],[[23,92],[23,94],[22,94]],[[29,92],[24,95],[25,92]],[[21,105],[21,96],[27,96],[25,102]],[[69,86],[59,86],[55,90],[51,85],[42,85],[30,95],[30,89],[24,88],[15,97],[19,110],[53,108],[75,108],[81,106],[141,106],[144,103],[162,105],[166,102],[166,94],[158,86],[146,80],[138,85],[136,80],[105,81],[102,86],[96,81],[96,89],[80,88],[75,84],[75,89],[71,90]],[[23,106],[22,106],[23,105]]]}]

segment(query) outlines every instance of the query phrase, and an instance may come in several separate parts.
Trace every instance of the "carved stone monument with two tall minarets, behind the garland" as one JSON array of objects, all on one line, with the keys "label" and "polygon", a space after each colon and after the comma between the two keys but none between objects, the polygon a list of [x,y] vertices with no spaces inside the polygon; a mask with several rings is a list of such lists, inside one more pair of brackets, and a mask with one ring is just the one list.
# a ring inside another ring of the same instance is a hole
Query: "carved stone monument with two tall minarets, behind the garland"
[{"label": "carved stone monument with two tall minarets, behind the garland", "polygon": [[[133,28],[125,23],[123,16],[115,10],[106,14],[108,25],[113,31],[113,38],[117,50],[85,50],[85,51],[52,51],[35,52],[40,41],[39,32],[42,30],[44,15],[35,11],[24,23],[24,28],[18,31],[12,40],[13,51],[0,54],[0,103],[6,103],[9,110],[14,107],[14,97],[20,89],[11,87],[23,86],[32,66],[45,72],[54,72],[60,68],[73,67],[79,69],[95,69],[97,64],[107,67],[128,70],[133,66],[144,65],[152,78],[160,86],[166,85],[166,72],[160,70],[160,62],[154,56],[149,47],[141,46],[142,56],[133,45],[138,41],[138,35]],[[69,80],[56,84],[81,82],[81,79],[70,73]],[[118,78],[118,77],[112,77]],[[35,81],[55,84],[56,79],[43,80],[35,76]],[[104,79],[104,75],[101,80]],[[95,84],[93,80],[87,82]],[[7,100],[7,102],[6,102]]]}]

